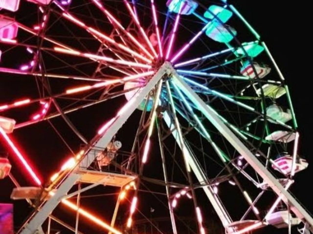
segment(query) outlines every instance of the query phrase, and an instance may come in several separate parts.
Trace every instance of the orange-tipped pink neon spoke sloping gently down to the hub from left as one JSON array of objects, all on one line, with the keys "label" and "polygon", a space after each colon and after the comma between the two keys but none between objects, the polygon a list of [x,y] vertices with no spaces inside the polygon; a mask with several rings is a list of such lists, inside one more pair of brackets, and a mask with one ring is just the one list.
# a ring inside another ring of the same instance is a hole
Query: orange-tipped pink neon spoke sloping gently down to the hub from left
[{"label": "orange-tipped pink neon spoke sloping gently down to the hub from left", "polygon": [[113,62],[113,63],[117,63],[117,64],[134,66],[134,67],[151,68],[151,65],[147,65],[147,64],[129,62],[129,61],[120,60],[120,59],[112,59],[112,58],[106,57],[106,56],[99,56],[99,55],[93,55],[93,54],[88,54],[88,53],[82,53],[79,51],[67,50],[67,49],[63,49],[60,47],[54,47],[54,51],[60,52],[63,54],[68,54],[68,55],[80,56],[80,57],[84,57],[84,58],[88,58],[88,59],[96,59],[96,60],[101,60],[101,61],[106,61],[106,62]]}]

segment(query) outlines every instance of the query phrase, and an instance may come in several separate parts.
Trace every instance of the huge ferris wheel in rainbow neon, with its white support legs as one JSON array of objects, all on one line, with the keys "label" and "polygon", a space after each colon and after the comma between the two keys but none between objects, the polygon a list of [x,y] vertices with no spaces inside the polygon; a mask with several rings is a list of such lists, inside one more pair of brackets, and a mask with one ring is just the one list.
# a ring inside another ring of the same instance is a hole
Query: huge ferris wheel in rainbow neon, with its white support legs
[{"label": "huge ferris wheel in rainbow neon, with its white support legs", "polygon": [[148,222],[151,234],[205,234],[214,217],[227,234],[313,231],[289,192],[308,162],[288,81],[235,6],[1,0],[0,9],[0,133],[11,152],[0,176],[32,207],[17,233],[136,234]]}]

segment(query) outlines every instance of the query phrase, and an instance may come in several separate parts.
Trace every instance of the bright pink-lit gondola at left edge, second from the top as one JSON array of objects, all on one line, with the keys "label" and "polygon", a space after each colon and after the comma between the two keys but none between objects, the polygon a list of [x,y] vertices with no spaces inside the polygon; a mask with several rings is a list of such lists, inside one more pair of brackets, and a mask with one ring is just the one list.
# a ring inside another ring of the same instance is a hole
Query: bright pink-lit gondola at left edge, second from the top
[{"label": "bright pink-lit gondola at left edge, second from the top", "polygon": [[16,38],[18,29],[19,25],[14,19],[0,15],[0,39]]}]

